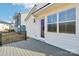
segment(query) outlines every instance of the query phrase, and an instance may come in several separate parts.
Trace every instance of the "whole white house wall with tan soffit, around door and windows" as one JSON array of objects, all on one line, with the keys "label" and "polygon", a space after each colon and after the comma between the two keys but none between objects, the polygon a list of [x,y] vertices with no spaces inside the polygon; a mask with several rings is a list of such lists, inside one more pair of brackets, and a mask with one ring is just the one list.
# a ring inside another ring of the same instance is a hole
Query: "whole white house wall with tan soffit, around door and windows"
[{"label": "whole white house wall with tan soffit, around door and windows", "polygon": [[[31,16],[26,21],[27,34],[33,38],[46,42],[48,44],[60,47],[62,49],[71,51],[73,53],[79,54],[79,4],[57,4],[42,10],[39,13],[36,13],[36,23],[33,23],[33,16]],[[67,33],[54,33],[47,31],[47,16],[52,13],[58,13],[60,11],[76,8],[76,34],[67,34]],[[55,8],[55,9],[54,9]],[[53,10],[54,9],[54,10]],[[40,21],[42,18],[45,18],[45,38],[41,38],[41,27]]]}]

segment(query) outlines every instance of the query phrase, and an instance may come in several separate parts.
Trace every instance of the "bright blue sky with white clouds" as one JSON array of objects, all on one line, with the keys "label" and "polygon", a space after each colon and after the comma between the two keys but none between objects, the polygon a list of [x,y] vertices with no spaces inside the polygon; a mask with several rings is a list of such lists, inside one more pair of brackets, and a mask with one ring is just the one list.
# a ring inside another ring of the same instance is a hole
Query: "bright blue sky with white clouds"
[{"label": "bright blue sky with white clouds", "polygon": [[33,3],[0,3],[0,21],[11,22],[17,12],[28,13],[34,6]]}]

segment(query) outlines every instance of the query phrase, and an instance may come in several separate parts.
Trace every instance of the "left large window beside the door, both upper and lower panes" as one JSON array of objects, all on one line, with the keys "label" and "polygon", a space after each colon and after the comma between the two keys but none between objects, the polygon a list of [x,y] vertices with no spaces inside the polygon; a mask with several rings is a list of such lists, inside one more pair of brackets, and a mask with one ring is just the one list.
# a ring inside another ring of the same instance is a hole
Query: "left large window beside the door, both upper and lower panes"
[{"label": "left large window beside the door, both upper and lower panes", "polygon": [[48,31],[57,32],[57,14],[48,16]]}]

